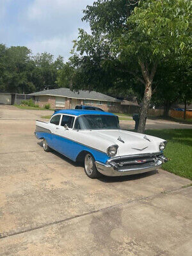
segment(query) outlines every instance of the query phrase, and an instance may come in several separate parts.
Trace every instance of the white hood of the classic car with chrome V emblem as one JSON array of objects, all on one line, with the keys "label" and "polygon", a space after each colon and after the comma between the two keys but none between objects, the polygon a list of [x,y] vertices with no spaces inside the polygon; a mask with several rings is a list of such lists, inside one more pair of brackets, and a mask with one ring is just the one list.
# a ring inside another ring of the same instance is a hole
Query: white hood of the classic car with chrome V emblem
[{"label": "white hood of the classic car with chrome V emblem", "polygon": [[92,131],[92,136],[108,140],[111,145],[118,145],[116,156],[159,152],[159,143],[164,141],[153,136],[124,130],[97,130]]}]

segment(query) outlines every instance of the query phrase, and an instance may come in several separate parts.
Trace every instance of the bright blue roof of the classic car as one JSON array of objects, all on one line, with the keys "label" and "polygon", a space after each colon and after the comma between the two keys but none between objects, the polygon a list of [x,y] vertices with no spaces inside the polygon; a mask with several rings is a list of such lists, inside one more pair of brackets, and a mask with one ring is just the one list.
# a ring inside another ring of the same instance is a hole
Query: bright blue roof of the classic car
[{"label": "bright blue roof of the classic car", "polygon": [[68,114],[68,115],[74,115],[74,116],[80,116],[80,115],[108,115],[108,116],[115,116],[112,113],[104,112],[104,111],[97,111],[97,110],[88,110],[88,109],[63,109],[55,111],[53,115],[56,114]]}]

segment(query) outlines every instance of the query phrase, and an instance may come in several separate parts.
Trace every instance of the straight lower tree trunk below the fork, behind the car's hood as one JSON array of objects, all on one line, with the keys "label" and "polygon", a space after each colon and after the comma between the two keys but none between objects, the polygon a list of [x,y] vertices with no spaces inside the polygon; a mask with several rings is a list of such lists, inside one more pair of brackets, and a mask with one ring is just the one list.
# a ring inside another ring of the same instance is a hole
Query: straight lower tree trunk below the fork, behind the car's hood
[{"label": "straight lower tree trunk below the fork, behind the car's hood", "polygon": [[147,112],[148,112],[151,96],[152,96],[152,84],[148,83],[145,85],[145,93],[144,93],[143,102],[141,106],[140,124],[138,127],[138,132],[140,133],[145,132],[145,124],[147,120]]}]

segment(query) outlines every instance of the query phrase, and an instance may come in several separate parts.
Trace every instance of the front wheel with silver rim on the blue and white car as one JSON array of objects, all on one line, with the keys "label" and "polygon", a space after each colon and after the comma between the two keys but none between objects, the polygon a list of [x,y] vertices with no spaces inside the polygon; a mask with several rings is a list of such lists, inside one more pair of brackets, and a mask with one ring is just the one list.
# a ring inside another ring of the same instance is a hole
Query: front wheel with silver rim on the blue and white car
[{"label": "front wheel with silver rim on the blue and white car", "polygon": [[86,154],[84,157],[84,172],[91,179],[97,179],[100,177],[100,173],[95,166],[95,159],[91,154]]}]

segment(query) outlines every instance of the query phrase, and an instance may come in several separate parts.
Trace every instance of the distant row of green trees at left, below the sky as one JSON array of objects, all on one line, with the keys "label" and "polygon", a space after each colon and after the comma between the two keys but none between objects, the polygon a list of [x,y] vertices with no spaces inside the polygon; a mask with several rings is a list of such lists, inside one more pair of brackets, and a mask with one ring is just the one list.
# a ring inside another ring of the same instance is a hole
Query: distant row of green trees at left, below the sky
[{"label": "distant row of green trees at left, below the sky", "polygon": [[31,56],[27,47],[10,47],[0,44],[0,92],[31,93],[45,86],[57,88],[58,70],[63,58],[44,52]]}]

